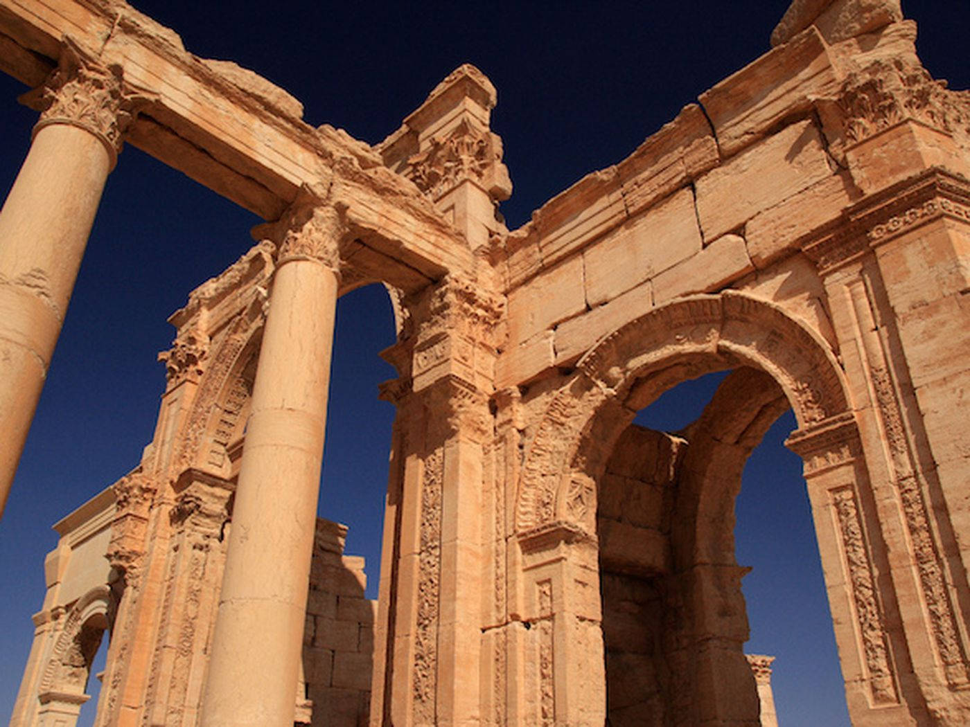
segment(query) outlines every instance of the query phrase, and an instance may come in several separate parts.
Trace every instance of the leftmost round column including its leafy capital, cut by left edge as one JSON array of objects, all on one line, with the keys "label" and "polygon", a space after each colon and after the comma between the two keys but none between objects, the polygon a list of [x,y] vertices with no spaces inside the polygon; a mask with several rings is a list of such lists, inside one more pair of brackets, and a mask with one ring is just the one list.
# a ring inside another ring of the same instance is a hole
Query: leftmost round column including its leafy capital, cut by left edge
[{"label": "leftmost round column including its leafy capital, cut by left edge", "polygon": [[0,517],[136,97],[67,40],[24,100],[42,114],[0,210]]}]

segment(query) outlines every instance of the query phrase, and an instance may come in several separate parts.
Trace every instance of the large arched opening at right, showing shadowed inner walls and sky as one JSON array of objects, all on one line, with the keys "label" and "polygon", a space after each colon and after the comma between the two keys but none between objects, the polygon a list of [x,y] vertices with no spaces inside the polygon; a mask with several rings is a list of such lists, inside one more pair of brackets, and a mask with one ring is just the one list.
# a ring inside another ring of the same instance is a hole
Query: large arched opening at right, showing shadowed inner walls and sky
[{"label": "large arched opening at right, showing shadowed inner walls and sky", "polygon": [[783,444],[795,427],[770,377],[741,367],[673,386],[621,434],[598,482],[611,727],[758,724],[759,702],[777,724],[770,662],[743,654],[782,657],[783,714],[822,700],[848,723],[800,461]]}]

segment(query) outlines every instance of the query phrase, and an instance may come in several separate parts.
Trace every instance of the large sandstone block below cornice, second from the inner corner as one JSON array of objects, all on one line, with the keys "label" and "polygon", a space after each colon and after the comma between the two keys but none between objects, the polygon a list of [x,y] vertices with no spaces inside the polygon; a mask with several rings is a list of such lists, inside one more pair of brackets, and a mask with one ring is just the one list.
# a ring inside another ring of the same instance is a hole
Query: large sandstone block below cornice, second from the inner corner
[{"label": "large sandstone block below cornice, second from the inner corner", "polygon": [[694,194],[675,192],[583,253],[586,301],[599,305],[699,252]]}]

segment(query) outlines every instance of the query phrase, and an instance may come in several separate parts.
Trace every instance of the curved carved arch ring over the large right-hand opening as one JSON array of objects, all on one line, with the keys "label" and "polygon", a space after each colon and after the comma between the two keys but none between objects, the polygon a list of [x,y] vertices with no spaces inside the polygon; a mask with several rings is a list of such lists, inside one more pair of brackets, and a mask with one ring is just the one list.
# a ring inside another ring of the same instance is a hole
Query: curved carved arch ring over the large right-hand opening
[{"label": "curved carved arch ring over the large right-hand opening", "polygon": [[[674,300],[601,338],[546,408],[520,478],[520,538],[557,523],[592,532],[584,493],[592,496],[604,458],[636,410],[684,378],[738,365],[778,383],[799,427],[850,411],[835,354],[780,306],[735,291]],[[663,375],[671,366],[678,376]]]}]

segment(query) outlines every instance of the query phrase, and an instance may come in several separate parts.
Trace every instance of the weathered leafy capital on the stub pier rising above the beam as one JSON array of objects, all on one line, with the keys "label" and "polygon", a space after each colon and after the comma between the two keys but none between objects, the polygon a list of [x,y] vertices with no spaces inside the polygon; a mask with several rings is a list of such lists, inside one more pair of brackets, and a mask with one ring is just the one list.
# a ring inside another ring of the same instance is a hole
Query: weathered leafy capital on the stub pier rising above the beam
[{"label": "weathered leafy capital on the stub pier rising above the beam", "polygon": [[404,175],[433,199],[470,179],[495,201],[508,199],[512,183],[501,163],[501,139],[488,129],[463,120],[431,140],[407,160]]}]

